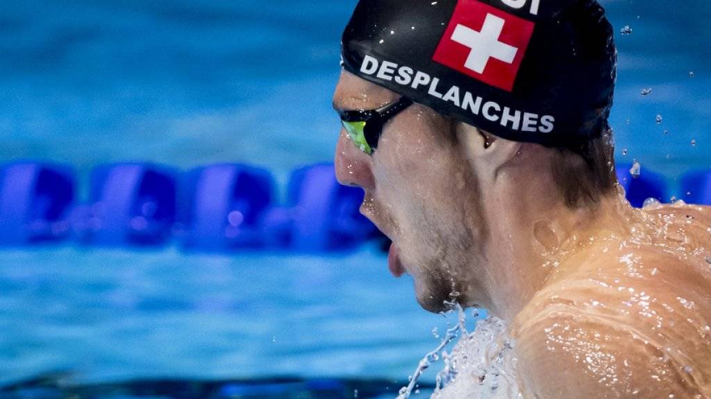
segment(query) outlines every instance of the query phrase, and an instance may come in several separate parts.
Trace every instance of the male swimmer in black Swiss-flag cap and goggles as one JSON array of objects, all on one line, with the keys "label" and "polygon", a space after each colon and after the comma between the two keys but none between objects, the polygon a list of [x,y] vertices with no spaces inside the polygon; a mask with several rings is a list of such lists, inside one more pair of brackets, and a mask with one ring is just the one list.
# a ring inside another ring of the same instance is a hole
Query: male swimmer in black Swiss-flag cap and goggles
[{"label": "male swimmer in black Swiss-flag cap and goggles", "polygon": [[594,0],[361,0],[336,174],[422,307],[508,322],[523,398],[711,398],[711,209],[624,200],[613,37]]}]

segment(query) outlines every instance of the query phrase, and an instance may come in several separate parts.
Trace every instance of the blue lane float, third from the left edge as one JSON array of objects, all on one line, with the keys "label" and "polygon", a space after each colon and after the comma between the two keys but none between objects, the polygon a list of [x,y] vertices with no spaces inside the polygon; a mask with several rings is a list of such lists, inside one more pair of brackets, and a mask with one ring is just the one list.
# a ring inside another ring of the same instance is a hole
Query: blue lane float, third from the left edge
[{"label": "blue lane float, third from the left edge", "polygon": [[183,246],[201,250],[259,248],[260,219],[272,207],[274,179],[242,164],[192,170],[183,180]]}]

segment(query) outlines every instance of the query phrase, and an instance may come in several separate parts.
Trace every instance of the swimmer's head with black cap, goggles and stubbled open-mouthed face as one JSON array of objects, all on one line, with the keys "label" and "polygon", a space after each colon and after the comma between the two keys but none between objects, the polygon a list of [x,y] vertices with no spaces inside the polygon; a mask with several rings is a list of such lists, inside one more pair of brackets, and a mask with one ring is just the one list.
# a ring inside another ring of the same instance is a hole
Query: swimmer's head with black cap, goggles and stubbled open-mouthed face
[{"label": "swimmer's head with black cap, goggles and stubbled open-mouthed face", "polygon": [[[360,1],[334,96],[336,172],[365,189],[423,307],[452,293],[488,305],[491,224],[515,214],[496,204],[522,182],[518,200],[572,208],[614,189],[612,37],[589,0]],[[414,104],[378,112],[403,98]]]}]

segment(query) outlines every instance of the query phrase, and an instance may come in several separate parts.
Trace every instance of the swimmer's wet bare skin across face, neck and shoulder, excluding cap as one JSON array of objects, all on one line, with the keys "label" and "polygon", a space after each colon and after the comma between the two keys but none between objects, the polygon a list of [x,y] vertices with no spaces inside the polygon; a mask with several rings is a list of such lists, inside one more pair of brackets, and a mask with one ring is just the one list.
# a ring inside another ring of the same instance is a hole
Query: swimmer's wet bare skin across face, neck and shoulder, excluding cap
[{"label": "swimmer's wet bare skin across face, neck and shoulder, excluding cap", "polygon": [[[338,109],[399,98],[343,72]],[[454,293],[510,322],[525,398],[711,397],[711,208],[570,209],[551,151],[411,106],[367,155],[341,131],[336,175],[390,236],[417,300]]]}]

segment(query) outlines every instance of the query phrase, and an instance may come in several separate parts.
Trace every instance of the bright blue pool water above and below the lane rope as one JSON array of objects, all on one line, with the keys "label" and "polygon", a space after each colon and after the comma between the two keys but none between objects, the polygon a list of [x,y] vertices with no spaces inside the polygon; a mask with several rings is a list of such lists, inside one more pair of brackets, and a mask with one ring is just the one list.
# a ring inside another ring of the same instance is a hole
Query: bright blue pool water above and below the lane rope
[{"label": "bright blue pool water above and below the lane rope", "polygon": [[[671,178],[711,168],[711,4],[603,3],[617,32],[633,30],[617,35],[619,160]],[[283,183],[292,168],[332,158],[338,40],[354,4],[6,1],[0,162],[68,163],[82,187],[95,165],[124,160],[252,163]],[[411,285],[370,246],[334,256],[2,250],[0,382],[51,370],[83,381],[404,382],[447,323],[419,309]]]}]

